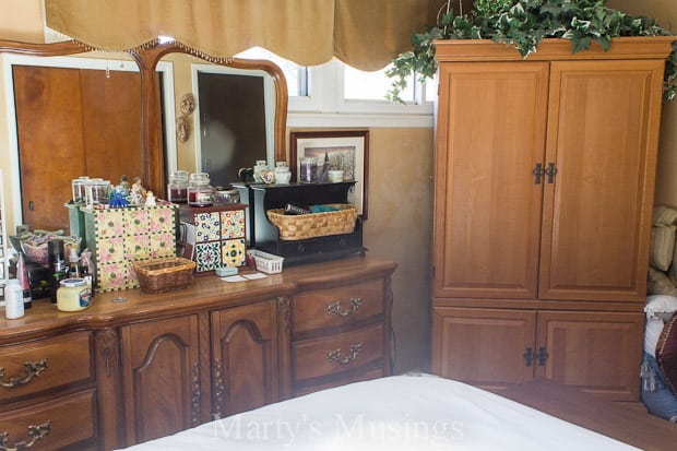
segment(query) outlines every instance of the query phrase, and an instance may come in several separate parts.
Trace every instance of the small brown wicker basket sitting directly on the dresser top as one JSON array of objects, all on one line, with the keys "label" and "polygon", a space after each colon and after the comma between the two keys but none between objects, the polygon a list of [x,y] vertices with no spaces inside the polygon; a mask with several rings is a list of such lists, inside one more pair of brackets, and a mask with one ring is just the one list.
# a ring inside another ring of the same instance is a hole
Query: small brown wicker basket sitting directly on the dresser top
[{"label": "small brown wicker basket sitting directly on the dresser top", "polygon": [[147,293],[164,293],[189,286],[194,269],[194,261],[180,257],[134,262],[139,285]]}]

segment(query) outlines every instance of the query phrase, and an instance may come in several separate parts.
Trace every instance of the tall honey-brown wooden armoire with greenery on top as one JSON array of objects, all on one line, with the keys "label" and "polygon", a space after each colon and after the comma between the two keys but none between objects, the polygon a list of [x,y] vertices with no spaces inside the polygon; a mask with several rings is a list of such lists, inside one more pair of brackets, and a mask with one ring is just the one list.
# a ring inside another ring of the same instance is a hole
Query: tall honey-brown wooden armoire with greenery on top
[{"label": "tall honey-brown wooden armoire with greenery on top", "polygon": [[639,400],[672,40],[437,43],[432,372]]}]

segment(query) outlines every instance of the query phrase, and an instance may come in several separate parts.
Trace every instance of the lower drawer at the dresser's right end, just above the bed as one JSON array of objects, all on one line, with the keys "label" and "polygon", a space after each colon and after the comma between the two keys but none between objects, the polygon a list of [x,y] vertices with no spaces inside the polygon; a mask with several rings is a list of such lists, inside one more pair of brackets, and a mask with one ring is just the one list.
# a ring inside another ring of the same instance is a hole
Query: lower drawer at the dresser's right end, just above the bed
[{"label": "lower drawer at the dresser's right end, just above the bed", "polygon": [[292,345],[294,381],[359,368],[383,359],[383,325],[377,324]]}]

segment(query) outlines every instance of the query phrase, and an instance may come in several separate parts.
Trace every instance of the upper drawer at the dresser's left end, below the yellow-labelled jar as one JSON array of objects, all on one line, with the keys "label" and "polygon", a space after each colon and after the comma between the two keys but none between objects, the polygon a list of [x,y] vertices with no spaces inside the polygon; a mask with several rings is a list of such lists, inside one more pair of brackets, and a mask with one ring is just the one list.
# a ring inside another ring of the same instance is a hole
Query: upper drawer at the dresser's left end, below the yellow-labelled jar
[{"label": "upper drawer at the dresser's left end, below the yellow-labelled jar", "polygon": [[94,381],[93,365],[90,332],[0,347],[0,403]]}]

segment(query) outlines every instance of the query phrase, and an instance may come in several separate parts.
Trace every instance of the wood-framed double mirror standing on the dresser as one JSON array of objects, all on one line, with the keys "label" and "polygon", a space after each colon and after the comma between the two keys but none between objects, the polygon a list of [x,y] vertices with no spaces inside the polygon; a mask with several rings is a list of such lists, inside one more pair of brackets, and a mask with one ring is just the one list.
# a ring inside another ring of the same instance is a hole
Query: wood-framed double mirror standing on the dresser
[{"label": "wood-framed double mirror standing on the dresser", "polygon": [[[177,168],[213,170],[214,182],[227,185],[235,181],[236,165],[251,167],[257,159],[272,164],[286,158],[286,83],[280,68],[270,61],[210,60],[175,43],[104,54],[71,41],[40,45],[0,40],[0,54],[8,104],[3,127],[9,137],[9,162],[3,169],[12,186],[21,187],[13,199],[8,199],[13,212],[10,230],[14,224],[67,229],[63,203],[71,198],[71,180],[81,175],[103,177],[112,183],[119,182],[122,174],[141,176],[149,189],[165,198],[168,174]],[[258,93],[257,105],[226,98],[216,108],[235,106],[236,116],[239,114],[250,127],[245,127],[245,132],[263,133],[264,138],[248,145],[240,145],[242,139],[231,141],[229,147],[214,145],[209,133],[214,130],[209,123],[211,116],[200,109],[199,96],[217,94],[199,85],[197,80],[203,76],[252,81],[249,84]],[[19,79],[32,83],[16,85]],[[45,84],[47,80],[49,85]],[[194,97],[190,111],[178,104],[187,94]],[[17,107],[17,96],[28,102]],[[40,102],[32,102],[36,98]],[[76,114],[73,105],[78,105]],[[106,108],[109,114],[103,112]],[[41,122],[35,122],[39,118]],[[188,126],[185,141],[177,138],[177,122],[179,128],[181,122]],[[27,141],[21,142],[22,138]],[[46,151],[36,152],[35,146]],[[242,155],[221,170],[218,161],[225,152]]]}]

